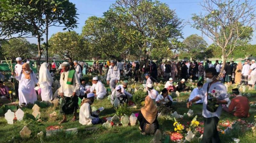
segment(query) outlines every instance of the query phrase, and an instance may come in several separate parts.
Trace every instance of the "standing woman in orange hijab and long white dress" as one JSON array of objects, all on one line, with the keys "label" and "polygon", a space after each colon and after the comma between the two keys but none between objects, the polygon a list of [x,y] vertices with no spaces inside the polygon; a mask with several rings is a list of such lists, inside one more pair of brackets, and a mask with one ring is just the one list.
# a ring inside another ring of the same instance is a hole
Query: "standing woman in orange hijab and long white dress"
[{"label": "standing woman in orange hijab and long white dress", "polygon": [[25,106],[28,103],[34,104],[34,102],[37,101],[37,93],[34,89],[37,84],[37,78],[35,77],[35,73],[30,69],[30,65],[24,63],[22,65],[22,74],[15,76],[15,78],[19,81],[19,105]]}]

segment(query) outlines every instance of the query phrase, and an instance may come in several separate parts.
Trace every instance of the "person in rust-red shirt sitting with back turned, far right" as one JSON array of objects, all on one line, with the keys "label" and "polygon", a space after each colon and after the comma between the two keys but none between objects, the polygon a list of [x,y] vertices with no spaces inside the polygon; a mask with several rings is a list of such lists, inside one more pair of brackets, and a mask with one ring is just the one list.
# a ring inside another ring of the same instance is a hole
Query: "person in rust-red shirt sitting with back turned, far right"
[{"label": "person in rust-red shirt sitting with back turned, far right", "polygon": [[236,117],[249,117],[249,101],[246,97],[239,95],[238,88],[232,89],[235,98],[231,100],[228,107],[223,107],[223,110],[233,114]]}]

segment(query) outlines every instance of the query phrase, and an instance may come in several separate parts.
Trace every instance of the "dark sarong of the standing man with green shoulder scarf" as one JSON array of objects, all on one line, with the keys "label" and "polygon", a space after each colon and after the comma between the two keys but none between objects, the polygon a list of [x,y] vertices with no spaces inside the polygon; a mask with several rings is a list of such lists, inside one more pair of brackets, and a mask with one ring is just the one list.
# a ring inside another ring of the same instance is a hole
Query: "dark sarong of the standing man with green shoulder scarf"
[{"label": "dark sarong of the standing man with green shoulder scarf", "polygon": [[78,109],[78,96],[64,96],[60,104],[60,113],[63,115],[74,114]]}]

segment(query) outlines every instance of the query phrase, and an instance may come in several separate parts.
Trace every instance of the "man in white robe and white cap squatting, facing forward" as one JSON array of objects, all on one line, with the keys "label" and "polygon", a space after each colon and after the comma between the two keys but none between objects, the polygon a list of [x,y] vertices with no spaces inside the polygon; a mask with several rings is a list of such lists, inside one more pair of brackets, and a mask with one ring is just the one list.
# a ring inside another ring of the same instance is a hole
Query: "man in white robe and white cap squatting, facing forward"
[{"label": "man in white robe and white cap squatting, facing forward", "polygon": [[97,77],[92,78],[92,87],[90,89],[90,92],[94,92],[95,90],[95,96],[97,97],[97,99],[103,99],[104,96],[107,94],[107,90],[104,87],[104,85],[98,80]]}]

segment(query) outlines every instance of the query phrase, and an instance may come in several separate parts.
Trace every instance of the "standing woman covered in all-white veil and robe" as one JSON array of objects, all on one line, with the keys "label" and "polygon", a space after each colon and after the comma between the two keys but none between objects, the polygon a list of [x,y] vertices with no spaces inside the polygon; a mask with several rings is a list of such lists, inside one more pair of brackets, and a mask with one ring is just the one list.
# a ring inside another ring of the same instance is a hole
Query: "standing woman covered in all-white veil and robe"
[{"label": "standing woman covered in all-white veil and robe", "polygon": [[52,82],[52,75],[47,68],[47,63],[44,62],[40,67],[38,80],[38,86],[41,88],[42,101],[52,100]]}]

